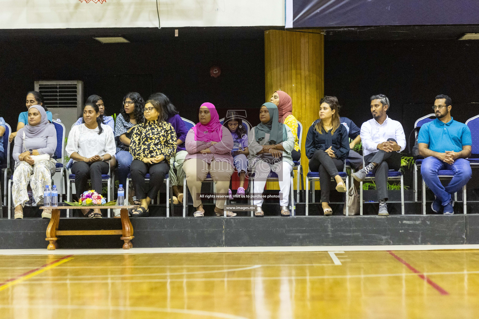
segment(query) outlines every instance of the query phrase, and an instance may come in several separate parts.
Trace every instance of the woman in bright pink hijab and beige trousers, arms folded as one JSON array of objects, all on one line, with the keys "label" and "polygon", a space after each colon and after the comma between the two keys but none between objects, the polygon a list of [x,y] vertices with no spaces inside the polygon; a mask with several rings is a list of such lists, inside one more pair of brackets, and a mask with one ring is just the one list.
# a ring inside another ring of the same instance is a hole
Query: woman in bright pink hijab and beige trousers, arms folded
[{"label": "woman in bright pink hijab and beige trousers, arms folded", "polygon": [[[183,163],[183,171],[196,209],[193,216],[205,215],[205,209],[197,194],[201,193],[201,183],[209,173],[216,182],[216,194],[224,195],[225,198],[216,201],[215,214],[219,217],[223,216],[229,181],[233,174],[233,137],[231,132],[221,125],[213,104],[203,103],[198,117],[200,122],[186,135],[185,147],[188,155]],[[227,211],[226,216],[233,217],[236,213]]]}]

